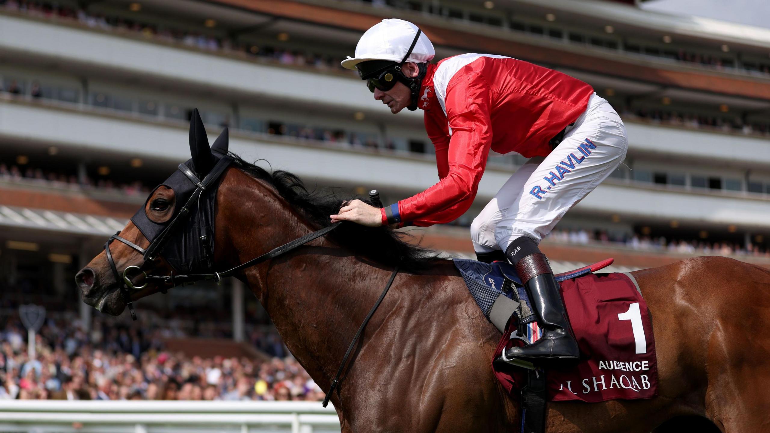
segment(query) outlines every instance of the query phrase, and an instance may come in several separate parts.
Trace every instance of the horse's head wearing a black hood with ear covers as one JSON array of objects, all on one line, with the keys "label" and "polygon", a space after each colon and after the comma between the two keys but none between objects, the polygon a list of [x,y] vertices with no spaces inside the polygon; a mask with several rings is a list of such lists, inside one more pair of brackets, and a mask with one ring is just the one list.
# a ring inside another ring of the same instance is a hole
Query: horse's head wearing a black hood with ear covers
[{"label": "horse's head wearing a black hood with ear covers", "polygon": [[192,158],[157,186],[126,227],[109,238],[104,251],[75,275],[86,304],[118,315],[131,300],[174,285],[148,281],[149,273],[167,276],[211,269],[217,181],[229,164],[227,129],[209,147],[194,110],[189,142]]}]

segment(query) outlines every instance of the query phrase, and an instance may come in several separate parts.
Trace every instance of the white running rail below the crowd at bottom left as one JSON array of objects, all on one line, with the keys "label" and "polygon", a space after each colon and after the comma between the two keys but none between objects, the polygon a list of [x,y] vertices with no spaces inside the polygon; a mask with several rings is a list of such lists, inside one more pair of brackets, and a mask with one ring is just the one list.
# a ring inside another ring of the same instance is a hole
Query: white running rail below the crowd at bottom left
[{"label": "white running rail below the crowd at bottom left", "polygon": [[333,408],[310,401],[0,400],[0,432],[256,433],[340,431]]}]

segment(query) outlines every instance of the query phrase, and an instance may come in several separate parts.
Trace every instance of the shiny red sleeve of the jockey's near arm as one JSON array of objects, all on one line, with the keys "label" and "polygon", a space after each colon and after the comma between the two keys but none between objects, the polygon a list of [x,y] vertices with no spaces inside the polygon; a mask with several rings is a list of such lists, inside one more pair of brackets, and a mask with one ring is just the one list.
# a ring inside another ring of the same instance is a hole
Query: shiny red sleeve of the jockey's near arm
[{"label": "shiny red sleeve of the jockey's near arm", "polygon": [[451,138],[447,175],[422,193],[398,202],[401,220],[417,226],[449,223],[470,208],[492,143],[490,94],[486,79],[462,69],[447,86]]}]

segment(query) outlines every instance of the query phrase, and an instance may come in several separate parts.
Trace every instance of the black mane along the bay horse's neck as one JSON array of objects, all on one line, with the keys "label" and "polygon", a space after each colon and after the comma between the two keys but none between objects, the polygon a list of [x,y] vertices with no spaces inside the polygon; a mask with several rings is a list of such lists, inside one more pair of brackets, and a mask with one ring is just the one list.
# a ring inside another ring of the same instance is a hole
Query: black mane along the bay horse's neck
[{"label": "black mane along the bay horse's neck", "polygon": [[[271,173],[260,166],[247,163],[232,152],[229,156],[233,158],[233,166],[272,185],[280,196],[319,229],[331,225],[329,216],[337,213],[344,202],[360,198],[340,198],[333,190],[308,191],[302,180],[293,173],[285,170]],[[370,203],[369,200],[363,201]],[[408,243],[405,239],[412,238],[409,233],[390,227],[364,227],[347,222],[339,224],[341,227],[330,232],[328,236],[341,247],[374,262],[390,267],[398,266],[403,270],[420,271],[438,258],[435,251]]]}]

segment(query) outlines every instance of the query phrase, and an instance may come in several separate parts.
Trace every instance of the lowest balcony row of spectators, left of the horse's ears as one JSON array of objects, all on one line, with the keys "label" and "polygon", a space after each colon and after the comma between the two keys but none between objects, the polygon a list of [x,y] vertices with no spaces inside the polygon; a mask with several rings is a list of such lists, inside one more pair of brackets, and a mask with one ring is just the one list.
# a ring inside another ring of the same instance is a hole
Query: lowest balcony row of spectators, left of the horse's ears
[{"label": "lowest balcony row of spectators, left of the horse's ears", "polygon": [[18,182],[39,183],[45,186],[52,186],[59,189],[95,189],[109,190],[111,192],[120,192],[129,196],[145,196],[149,193],[149,186],[142,184],[139,180],[134,182],[119,183],[108,177],[100,176],[99,179],[92,179],[85,176],[85,179],[79,180],[74,174],[66,174],[52,170],[43,170],[31,166],[15,164],[6,165],[0,163],[0,180]]}]

